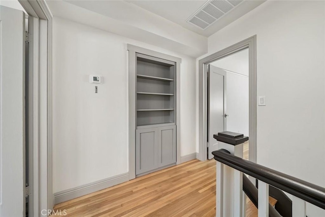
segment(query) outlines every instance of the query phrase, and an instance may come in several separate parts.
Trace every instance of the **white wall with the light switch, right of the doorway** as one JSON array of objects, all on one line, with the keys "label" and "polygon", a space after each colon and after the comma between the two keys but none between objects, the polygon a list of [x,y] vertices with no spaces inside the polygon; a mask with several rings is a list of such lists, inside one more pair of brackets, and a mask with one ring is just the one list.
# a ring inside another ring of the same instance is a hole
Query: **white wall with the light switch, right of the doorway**
[{"label": "white wall with the light switch, right of the doorway", "polygon": [[[268,1],[209,37],[257,35],[257,163],[325,187],[325,2]],[[307,206],[308,216],[325,216]]]}]

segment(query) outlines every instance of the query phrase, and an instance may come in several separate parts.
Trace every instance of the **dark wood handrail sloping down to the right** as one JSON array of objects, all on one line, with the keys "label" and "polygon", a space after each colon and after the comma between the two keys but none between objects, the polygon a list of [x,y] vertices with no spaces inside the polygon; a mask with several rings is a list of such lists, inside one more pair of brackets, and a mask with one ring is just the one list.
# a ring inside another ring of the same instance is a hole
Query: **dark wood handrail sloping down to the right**
[{"label": "dark wood handrail sloping down to the right", "polygon": [[325,209],[325,188],[231,155],[227,150],[213,151],[214,159],[284,192]]}]

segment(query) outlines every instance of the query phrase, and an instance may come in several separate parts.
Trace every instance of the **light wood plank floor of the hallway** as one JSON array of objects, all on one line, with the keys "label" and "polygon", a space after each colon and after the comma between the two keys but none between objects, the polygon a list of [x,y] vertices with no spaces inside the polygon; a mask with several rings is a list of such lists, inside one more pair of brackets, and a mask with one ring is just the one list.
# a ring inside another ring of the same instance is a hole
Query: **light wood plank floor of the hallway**
[{"label": "light wood plank floor of the hallway", "polygon": [[[66,209],[66,216],[78,217],[215,216],[215,165],[215,160],[189,161],[57,204],[54,209]],[[247,216],[257,216],[253,208]]]}]

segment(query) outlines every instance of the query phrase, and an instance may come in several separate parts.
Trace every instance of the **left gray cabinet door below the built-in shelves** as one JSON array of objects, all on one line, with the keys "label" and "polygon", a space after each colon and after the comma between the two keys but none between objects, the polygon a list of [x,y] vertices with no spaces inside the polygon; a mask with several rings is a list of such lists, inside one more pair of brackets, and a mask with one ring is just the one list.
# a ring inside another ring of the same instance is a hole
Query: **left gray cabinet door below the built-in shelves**
[{"label": "left gray cabinet door below the built-in shelves", "polygon": [[158,128],[136,131],[136,174],[158,168]]}]

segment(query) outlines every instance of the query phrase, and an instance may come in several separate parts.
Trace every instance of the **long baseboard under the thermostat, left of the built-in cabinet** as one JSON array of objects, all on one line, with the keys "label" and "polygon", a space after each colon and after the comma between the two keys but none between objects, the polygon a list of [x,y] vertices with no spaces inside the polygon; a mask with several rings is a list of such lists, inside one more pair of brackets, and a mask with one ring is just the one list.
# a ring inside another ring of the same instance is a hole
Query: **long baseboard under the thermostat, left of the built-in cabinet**
[{"label": "long baseboard under the thermostat, left of the built-in cabinet", "polygon": [[54,193],[54,204],[62,203],[64,201],[72,200],[96,191],[107,189],[113,185],[128,181],[128,173],[116,175],[110,178],[95,181],[89,184],[84,184],[76,188],[64,190]]}]

